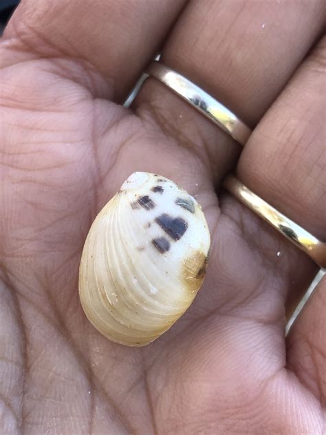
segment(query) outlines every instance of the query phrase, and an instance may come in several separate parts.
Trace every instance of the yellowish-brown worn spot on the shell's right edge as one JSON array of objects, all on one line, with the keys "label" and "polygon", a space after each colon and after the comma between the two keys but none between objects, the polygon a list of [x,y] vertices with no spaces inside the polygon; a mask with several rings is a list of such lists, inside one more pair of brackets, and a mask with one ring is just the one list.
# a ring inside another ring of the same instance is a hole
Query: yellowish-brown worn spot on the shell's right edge
[{"label": "yellowish-brown worn spot on the shell's right edge", "polygon": [[202,286],[206,274],[208,255],[195,251],[182,265],[182,276],[186,287],[191,292],[197,292]]}]

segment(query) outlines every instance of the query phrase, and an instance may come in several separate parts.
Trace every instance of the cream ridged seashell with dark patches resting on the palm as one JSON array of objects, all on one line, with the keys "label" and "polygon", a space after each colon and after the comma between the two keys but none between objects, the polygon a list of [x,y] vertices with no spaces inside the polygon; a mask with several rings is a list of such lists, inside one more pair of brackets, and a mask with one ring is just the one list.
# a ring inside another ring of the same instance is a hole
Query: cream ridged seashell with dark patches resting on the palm
[{"label": "cream ridged seashell with dark patches resting on the palm", "polygon": [[195,198],[167,178],[133,173],[87,235],[79,272],[85,314],[111,341],[151,343],[195,299],[209,248]]}]

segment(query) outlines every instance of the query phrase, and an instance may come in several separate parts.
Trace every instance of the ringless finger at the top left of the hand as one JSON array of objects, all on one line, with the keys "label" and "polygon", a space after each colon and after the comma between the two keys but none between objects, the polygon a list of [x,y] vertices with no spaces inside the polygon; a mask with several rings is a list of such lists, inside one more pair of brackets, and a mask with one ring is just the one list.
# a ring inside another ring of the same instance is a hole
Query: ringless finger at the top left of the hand
[{"label": "ringless finger at the top left of the hand", "polygon": [[[111,99],[123,100],[159,50],[184,3],[25,0],[6,29],[5,38],[11,41],[6,47],[12,50],[3,64],[25,59],[25,52],[28,59],[31,53],[56,61],[65,59],[62,72],[78,80],[78,72],[68,62],[73,59],[89,74],[89,80],[95,76],[94,70],[105,78]],[[99,81],[96,76],[93,79]]]}]

